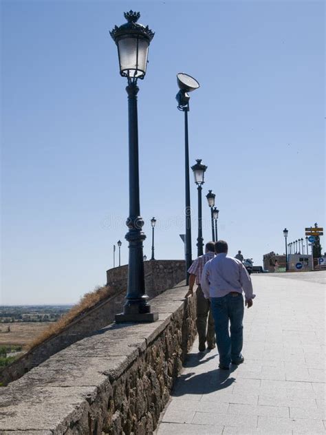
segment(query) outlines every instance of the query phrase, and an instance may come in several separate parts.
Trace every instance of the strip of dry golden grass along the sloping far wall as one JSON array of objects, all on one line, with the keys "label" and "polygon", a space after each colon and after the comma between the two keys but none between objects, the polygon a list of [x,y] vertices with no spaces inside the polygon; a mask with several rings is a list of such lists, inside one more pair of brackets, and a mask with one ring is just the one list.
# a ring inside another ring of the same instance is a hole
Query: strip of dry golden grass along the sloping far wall
[{"label": "strip of dry golden grass along the sloping far wall", "polygon": [[41,343],[58,335],[63,329],[66,328],[70,323],[77,319],[78,316],[84,314],[91,308],[93,308],[98,302],[114,295],[116,292],[108,286],[98,287],[93,292],[85,293],[85,295],[80,299],[78,304],[72,307],[63,317],[58,319],[55,323],[50,323],[48,328],[43,330],[40,335],[29,343],[28,350],[36,348]]}]

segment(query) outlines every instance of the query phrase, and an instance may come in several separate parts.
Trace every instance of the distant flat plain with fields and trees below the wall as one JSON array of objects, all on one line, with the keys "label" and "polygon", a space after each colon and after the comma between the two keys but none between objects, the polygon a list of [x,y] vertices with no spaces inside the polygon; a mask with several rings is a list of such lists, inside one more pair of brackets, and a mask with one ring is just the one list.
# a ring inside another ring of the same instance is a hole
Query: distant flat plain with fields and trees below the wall
[{"label": "distant flat plain with fields and trees below the wall", "polygon": [[0,306],[0,368],[28,350],[29,344],[71,305]]}]

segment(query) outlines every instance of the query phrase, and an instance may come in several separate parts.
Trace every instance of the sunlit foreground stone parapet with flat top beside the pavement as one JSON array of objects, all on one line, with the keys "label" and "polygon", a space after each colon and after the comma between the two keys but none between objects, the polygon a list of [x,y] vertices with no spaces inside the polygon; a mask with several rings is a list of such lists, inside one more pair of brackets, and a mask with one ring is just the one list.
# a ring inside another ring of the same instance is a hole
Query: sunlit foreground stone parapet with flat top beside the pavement
[{"label": "sunlit foreground stone parapet with flat top beside the pavement", "polygon": [[196,334],[186,290],[151,301],[158,321],[102,328],[1,388],[1,434],[152,434]]}]

